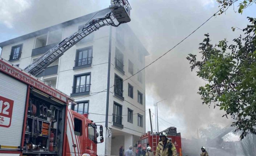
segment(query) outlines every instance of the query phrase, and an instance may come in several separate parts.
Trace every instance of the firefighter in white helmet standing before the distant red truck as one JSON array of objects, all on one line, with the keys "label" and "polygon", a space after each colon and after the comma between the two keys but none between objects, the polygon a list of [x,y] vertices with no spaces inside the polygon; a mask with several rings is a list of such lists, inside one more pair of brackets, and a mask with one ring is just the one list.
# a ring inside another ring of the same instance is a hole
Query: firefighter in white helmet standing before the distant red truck
[{"label": "firefighter in white helmet standing before the distant red truck", "polygon": [[176,147],[167,138],[167,134],[165,132],[161,132],[160,139],[161,142],[158,143],[156,148],[156,156],[177,156]]}]

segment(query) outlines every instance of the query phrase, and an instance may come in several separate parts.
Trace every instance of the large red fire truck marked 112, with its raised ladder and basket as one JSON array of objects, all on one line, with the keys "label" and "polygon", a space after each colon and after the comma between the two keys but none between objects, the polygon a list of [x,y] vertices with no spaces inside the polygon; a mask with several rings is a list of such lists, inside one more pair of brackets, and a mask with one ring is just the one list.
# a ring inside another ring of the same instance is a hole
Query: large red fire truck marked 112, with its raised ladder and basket
[{"label": "large red fire truck marked 112, with its raised ladder and basket", "polygon": [[131,21],[128,0],[111,0],[109,9],[25,69],[0,58],[0,156],[97,155],[103,126],[68,109],[75,100],[36,76],[93,31]]}]

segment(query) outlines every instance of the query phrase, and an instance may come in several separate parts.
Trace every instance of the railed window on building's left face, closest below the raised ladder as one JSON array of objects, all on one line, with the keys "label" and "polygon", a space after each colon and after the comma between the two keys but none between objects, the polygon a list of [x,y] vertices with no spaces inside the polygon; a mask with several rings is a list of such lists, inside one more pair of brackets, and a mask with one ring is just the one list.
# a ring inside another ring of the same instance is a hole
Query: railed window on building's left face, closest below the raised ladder
[{"label": "railed window on building's left face, closest below the raised ladder", "polygon": [[75,67],[92,63],[92,47],[77,50]]}]

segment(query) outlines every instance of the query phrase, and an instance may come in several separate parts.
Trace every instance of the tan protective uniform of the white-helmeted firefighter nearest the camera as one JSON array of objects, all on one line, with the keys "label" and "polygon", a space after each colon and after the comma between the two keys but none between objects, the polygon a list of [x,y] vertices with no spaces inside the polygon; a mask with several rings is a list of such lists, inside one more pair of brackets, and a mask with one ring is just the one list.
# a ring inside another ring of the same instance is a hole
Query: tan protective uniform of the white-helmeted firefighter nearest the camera
[{"label": "tan protective uniform of the white-helmeted firefighter nearest the camera", "polygon": [[177,156],[176,147],[169,139],[165,145],[161,141],[156,148],[156,156]]}]

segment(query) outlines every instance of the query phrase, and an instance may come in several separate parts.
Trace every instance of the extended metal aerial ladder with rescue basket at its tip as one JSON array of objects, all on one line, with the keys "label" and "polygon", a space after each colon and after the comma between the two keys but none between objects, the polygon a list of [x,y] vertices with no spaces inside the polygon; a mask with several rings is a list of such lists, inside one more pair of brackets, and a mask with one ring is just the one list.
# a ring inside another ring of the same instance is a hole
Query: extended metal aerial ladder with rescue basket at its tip
[{"label": "extended metal aerial ladder with rescue basket at its tip", "polygon": [[77,32],[61,41],[58,45],[45,52],[40,58],[29,64],[24,70],[34,76],[39,75],[46,67],[57,60],[76,43],[92,32],[103,26],[111,25],[118,27],[123,23],[131,21],[130,10],[132,9],[128,0],[111,0],[110,12],[105,17],[88,21]]}]

